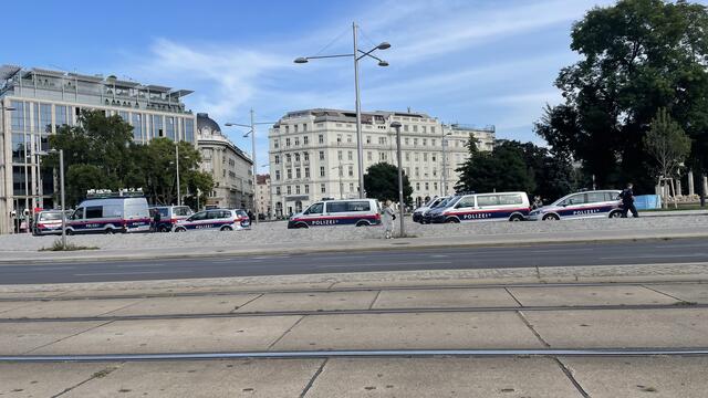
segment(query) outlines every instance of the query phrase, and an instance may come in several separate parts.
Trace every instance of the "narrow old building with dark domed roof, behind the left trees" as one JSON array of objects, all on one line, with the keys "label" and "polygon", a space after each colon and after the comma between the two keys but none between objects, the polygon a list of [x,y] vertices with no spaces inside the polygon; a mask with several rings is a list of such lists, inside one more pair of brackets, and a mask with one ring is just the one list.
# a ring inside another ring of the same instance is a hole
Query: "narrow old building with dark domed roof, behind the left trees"
[{"label": "narrow old building with dark domed roof, behind the left trees", "polygon": [[197,148],[201,153],[200,168],[211,174],[215,184],[206,205],[252,210],[253,161],[206,113],[197,114]]}]

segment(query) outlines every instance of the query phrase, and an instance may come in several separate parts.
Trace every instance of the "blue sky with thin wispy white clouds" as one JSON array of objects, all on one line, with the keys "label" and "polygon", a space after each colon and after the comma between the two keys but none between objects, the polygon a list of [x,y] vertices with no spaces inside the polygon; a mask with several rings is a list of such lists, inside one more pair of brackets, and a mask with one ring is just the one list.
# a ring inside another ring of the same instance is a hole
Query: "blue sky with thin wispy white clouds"
[{"label": "blue sky with thin wispy white clouds", "polygon": [[[392,45],[375,53],[388,67],[361,63],[364,111],[410,108],[542,145],[533,123],[545,104],[561,102],[553,82],[577,60],[572,24],[613,2],[10,1],[2,7],[0,64],[194,90],[187,107],[208,113],[250,153],[246,132],[225,124],[249,123],[251,108],[257,122],[313,107],[354,108],[351,59],[293,60],[351,53],[355,21],[361,49]],[[267,126],[257,137],[258,158],[266,159]]]}]

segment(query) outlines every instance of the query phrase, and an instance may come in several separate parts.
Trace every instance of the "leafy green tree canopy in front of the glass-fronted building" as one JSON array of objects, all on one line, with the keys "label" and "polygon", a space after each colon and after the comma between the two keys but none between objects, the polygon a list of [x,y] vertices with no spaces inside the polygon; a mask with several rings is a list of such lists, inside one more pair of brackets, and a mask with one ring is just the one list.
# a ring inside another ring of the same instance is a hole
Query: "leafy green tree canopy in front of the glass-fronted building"
[{"label": "leafy green tree canopy in front of the glass-fronted building", "polygon": [[[186,142],[178,145],[181,195],[211,191],[214,179],[198,170],[199,151]],[[117,115],[84,111],[75,126],[61,126],[50,136],[50,147],[64,150],[69,206],[77,205],[88,189],[121,188],[143,188],[152,203],[177,202],[175,143],[156,138],[135,144],[133,127]],[[51,154],[42,166],[59,168],[59,156]]]}]

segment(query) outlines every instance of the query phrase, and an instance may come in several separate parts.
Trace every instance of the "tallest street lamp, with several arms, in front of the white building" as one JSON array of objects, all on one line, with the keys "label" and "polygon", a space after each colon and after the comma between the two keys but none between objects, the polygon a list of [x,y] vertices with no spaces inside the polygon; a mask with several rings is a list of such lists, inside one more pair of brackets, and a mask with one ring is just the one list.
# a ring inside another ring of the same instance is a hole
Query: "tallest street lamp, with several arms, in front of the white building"
[{"label": "tallest street lamp, with several arms, in front of the white building", "polygon": [[[382,42],[369,51],[362,51],[358,49],[357,44],[357,33],[358,27],[356,22],[352,22],[352,32],[354,38],[354,52],[352,54],[335,54],[335,55],[315,55],[315,56],[299,56],[295,59],[296,64],[304,64],[310,62],[310,60],[319,60],[319,59],[331,59],[331,57],[343,57],[351,56],[354,59],[354,91],[356,93],[356,157],[358,160],[358,197],[361,199],[366,198],[366,192],[364,192],[364,144],[362,138],[362,102],[358,90],[358,61],[365,56],[372,57],[378,61],[378,66],[388,66],[388,62],[379,59],[376,55],[372,55],[372,53],[376,50],[387,50],[391,49],[391,44],[387,42]],[[361,54],[361,55],[360,55]]]}]

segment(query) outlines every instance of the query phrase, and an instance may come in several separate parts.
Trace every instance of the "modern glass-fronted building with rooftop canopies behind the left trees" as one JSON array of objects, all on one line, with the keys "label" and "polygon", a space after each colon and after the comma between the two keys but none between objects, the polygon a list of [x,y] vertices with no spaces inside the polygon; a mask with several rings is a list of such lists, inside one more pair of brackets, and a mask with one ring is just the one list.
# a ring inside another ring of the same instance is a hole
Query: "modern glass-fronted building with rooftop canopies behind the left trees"
[{"label": "modern glass-fronted building with rooftop canopies behind the left trees", "polygon": [[0,233],[14,230],[10,214],[55,208],[56,172],[40,168],[40,153],[62,125],[82,109],[119,115],[134,140],[155,137],[195,143],[196,117],[181,98],[190,91],[144,85],[115,76],[0,66]]}]

